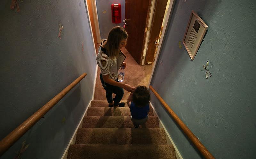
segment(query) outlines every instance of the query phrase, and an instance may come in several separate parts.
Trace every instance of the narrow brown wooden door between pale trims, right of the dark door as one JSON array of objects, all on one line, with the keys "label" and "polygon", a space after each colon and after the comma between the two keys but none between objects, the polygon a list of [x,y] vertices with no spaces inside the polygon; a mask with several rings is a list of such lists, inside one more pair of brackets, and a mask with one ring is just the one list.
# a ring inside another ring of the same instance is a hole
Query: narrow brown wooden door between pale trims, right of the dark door
[{"label": "narrow brown wooden door between pale trims, right of the dark door", "polygon": [[168,0],[156,0],[153,21],[150,29],[148,49],[146,52],[145,65],[153,64],[156,51],[156,41],[158,40],[160,29],[164,19],[164,13]]}]

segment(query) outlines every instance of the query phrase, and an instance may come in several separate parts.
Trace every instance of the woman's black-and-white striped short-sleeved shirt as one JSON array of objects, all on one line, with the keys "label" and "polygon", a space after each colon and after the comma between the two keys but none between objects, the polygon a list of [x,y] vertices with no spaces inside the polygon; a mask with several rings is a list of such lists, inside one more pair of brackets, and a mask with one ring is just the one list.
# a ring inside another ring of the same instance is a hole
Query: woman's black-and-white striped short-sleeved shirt
[{"label": "woman's black-and-white striped short-sleeved shirt", "polygon": [[117,79],[117,59],[109,58],[107,50],[100,46],[99,53],[96,57],[97,64],[100,67],[100,72],[102,75],[108,75],[110,79]]}]

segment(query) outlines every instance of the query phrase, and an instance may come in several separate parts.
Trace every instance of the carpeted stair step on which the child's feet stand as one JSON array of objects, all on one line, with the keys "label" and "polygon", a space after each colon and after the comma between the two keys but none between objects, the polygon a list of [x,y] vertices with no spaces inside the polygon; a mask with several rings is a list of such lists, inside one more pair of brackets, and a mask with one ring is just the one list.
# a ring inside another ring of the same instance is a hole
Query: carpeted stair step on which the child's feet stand
[{"label": "carpeted stair step on which the child's feet stand", "polygon": [[[83,128],[133,128],[131,117],[128,116],[85,116]],[[149,116],[147,128],[159,128],[158,118]]]}]

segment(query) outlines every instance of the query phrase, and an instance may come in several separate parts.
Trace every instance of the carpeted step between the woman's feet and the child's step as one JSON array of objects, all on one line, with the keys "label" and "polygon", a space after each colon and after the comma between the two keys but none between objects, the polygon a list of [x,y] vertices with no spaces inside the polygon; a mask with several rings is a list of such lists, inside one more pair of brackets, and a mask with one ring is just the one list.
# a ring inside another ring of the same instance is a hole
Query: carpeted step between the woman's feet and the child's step
[{"label": "carpeted step between the woman's feet and the child's step", "polygon": [[[87,116],[131,116],[131,112],[129,107],[90,107]],[[149,110],[148,116],[154,116],[152,108]]]}]

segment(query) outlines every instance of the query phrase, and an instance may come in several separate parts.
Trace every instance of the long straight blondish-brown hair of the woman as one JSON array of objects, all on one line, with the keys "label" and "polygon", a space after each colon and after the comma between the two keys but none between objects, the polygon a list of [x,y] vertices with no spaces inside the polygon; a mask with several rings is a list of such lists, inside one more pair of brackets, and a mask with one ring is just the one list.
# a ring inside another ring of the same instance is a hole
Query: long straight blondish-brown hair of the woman
[{"label": "long straight blondish-brown hair of the woman", "polygon": [[107,42],[103,44],[103,47],[107,49],[110,58],[117,57],[120,51],[119,46],[121,41],[127,38],[128,34],[121,26],[115,26],[110,30]]}]

